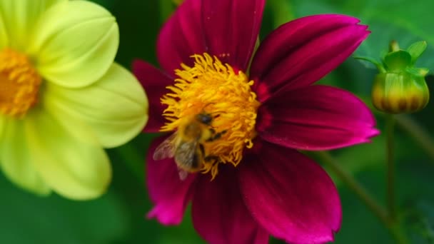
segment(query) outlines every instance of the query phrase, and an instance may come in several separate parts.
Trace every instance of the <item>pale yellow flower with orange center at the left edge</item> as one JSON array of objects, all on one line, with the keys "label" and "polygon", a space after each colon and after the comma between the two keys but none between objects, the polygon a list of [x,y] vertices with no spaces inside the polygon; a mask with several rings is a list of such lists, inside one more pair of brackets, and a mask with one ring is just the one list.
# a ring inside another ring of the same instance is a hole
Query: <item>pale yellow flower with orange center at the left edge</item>
[{"label": "pale yellow flower with orange center at the left edge", "polygon": [[0,0],[0,166],[40,195],[96,198],[111,181],[103,147],[136,136],[148,101],[113,59],[114,17],[89,1]]}]

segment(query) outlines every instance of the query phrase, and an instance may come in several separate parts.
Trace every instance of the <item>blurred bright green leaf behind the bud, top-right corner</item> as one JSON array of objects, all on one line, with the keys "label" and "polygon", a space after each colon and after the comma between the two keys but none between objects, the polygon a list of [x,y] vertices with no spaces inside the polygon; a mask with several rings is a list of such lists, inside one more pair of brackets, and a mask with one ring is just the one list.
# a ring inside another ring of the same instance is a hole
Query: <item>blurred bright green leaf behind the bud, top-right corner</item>
[{"label": "blurred bright green leaf behind the bud, top-right corner", "polygon": [[[367,24],[371,31],[355,56],[378,58],[388,50],[390,41],[396,40],[403,47],[416,41],[425,40],[428,44],[423,56],[418,60],[419,66],[434,66],[434,31],[432,11],[434,1],[413,0],[367,0],[367,1],[326,1],[313,0],[291,1],[295,5],[296,16],[312,14],[337,13],[348,14]],[[372,68],[372,67],[371,67]]]}]

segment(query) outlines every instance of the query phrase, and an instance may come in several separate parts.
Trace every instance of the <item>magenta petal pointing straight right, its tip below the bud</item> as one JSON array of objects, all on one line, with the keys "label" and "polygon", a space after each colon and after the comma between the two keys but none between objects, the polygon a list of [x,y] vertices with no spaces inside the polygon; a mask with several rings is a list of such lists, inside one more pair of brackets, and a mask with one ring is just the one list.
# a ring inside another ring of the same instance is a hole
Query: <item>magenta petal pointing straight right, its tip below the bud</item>
[{"label": "magenta petal pointing straight right, its tip below the bud", "polygon": [[258,113],[261,138],[289,148],[342,148],[378,135],[365,103],[331,86],[306,86],[270,98]]}]

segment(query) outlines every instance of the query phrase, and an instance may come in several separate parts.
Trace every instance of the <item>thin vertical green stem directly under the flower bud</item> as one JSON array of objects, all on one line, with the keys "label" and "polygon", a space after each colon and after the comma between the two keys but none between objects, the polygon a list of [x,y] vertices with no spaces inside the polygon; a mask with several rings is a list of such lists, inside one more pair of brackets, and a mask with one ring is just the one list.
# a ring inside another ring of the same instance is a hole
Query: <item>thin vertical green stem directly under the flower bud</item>
[{"label": "thin vertical green stem directly under the flower bud", "polygon": [[388,213],[392,220],[396,218],[395,210],[395,159],[393,158],[393,136],[394,136],[395,118],[392,114],[386,115],[385,133],[386,140],[386,162],[387,162],[387,204]]}]

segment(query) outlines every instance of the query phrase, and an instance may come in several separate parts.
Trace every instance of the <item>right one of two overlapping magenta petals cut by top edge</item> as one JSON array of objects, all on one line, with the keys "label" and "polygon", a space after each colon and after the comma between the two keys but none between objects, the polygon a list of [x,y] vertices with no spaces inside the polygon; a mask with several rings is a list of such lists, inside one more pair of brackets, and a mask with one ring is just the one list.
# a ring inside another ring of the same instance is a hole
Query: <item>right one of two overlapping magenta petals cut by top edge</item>
[{"label": "right one of two overlapping magenta petals cut by top edge", "polygon": [[209,52],[247,70],[261,27],[265,0],[204,0],[203,31]]}]

